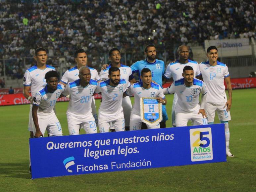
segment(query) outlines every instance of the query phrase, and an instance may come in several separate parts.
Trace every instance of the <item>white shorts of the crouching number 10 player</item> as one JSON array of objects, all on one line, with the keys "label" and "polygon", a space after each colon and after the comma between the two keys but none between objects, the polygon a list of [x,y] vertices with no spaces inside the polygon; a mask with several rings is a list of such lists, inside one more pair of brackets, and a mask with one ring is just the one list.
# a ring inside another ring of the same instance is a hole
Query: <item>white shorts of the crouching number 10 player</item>
[{"label": "white shorts of the crouching number 10 player", "polygon": [[193,125],[206,125],[208,124],[207,118],[203,118],[202,114],[197,112],[184,113],[176,112],[176,126],[187,126],[188,120],[191,120]]}]

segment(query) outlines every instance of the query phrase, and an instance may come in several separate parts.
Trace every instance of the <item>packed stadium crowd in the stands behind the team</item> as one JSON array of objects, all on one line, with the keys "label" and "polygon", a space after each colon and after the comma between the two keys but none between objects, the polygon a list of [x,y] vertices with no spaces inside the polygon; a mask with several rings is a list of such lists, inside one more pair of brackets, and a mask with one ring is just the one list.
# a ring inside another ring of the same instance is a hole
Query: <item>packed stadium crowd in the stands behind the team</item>
[{"label": "packed stadium crowd in the stands behind the team", "polygon": [[0,4],[0,59],[13,59],[5,65],[7,75],[15,78],[25,72],[23,60],[15,58],[32,57],[36,47],[47,48],[49,58],[65,56],[67,67],[81,47],[88,52],[88,65],[100,70],[112,47],[128,53],[130,65],[143,58],[145,44],[166,50],[170,60],[180,44],[255,37],[256,31],[255,1],[246,0],[1,0]]}]

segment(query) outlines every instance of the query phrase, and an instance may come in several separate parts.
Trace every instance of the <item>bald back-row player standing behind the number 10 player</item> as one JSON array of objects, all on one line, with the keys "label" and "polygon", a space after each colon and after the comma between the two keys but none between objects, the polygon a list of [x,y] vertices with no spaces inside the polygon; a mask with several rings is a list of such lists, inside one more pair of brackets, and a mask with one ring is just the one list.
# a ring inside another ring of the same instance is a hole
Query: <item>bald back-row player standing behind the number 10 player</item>
[{"label": "bald back-row player standing behind the number 10 player", "polygon": [[[191,61],[188,59],[189,56],[189,49],[186,45],[181,45],[178,48],[178,53],[179,53],[179,60],[177,60],[174,63],[170,63],[166,71],[164,73],[164,77],[166,79],[171,79],[173,78],[174,81],[179,80],[182,78],[182,70],[185,66],[191,66],[196,72],[196,77],[201,76],[201,72],[199,70],[198,63],[196,61]],[[177,104],[178,96],[177,93],[174,94],[174,99],[173,99],[173,107],[172,107],[172,124],[175,127],[175,105]]]}]

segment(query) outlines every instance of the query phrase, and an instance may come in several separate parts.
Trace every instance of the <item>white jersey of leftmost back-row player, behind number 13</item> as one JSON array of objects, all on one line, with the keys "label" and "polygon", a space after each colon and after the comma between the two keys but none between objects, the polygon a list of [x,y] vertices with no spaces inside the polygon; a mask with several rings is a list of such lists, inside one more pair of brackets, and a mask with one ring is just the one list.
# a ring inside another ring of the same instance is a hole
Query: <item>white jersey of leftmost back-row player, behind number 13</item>
[{"label": "white jersey of leftmost back-row player, behind number 13", "polygon": [[32,96],[47,84],[44,76],[47,72],[52,70],[55,71],[55,68],[49,65],[46,65],[44,70],[38,69],[36,64],[26,70],[23,77],[23,85],[31,86]]}]

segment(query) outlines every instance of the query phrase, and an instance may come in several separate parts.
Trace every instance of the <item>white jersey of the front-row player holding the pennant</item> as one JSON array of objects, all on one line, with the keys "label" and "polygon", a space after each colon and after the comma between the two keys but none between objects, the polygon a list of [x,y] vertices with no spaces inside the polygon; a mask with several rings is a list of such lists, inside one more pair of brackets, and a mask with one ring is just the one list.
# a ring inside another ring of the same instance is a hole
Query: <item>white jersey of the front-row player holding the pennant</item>
[{"label": "white jersey of the front-row player holding the pennant", "polygon": [[163,90],[160,85],[151,82],[149,89],[143,88],[143,82],[132,84],[127,90],[127,95],[132,96],[134,94],[134,104],[132,106],[132,114],[140,115],[140,98],[141,97],[162,97],[165,98]]}]

